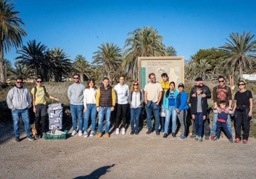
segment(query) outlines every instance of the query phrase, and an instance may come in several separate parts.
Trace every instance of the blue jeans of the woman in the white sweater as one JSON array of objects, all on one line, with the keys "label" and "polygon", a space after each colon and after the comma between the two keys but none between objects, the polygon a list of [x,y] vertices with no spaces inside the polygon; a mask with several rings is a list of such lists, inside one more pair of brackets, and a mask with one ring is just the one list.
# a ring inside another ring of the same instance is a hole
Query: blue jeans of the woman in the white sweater
[{"label": "blue jeans of the woman in the white sweater", "polygon": [[96,104],[87,104],[87,111],[84,113],[84,131],[87,131],[88,129],[88,121],[91,116],[92,120],[92,130],[95,130],[95,125],[96,125]]}]

